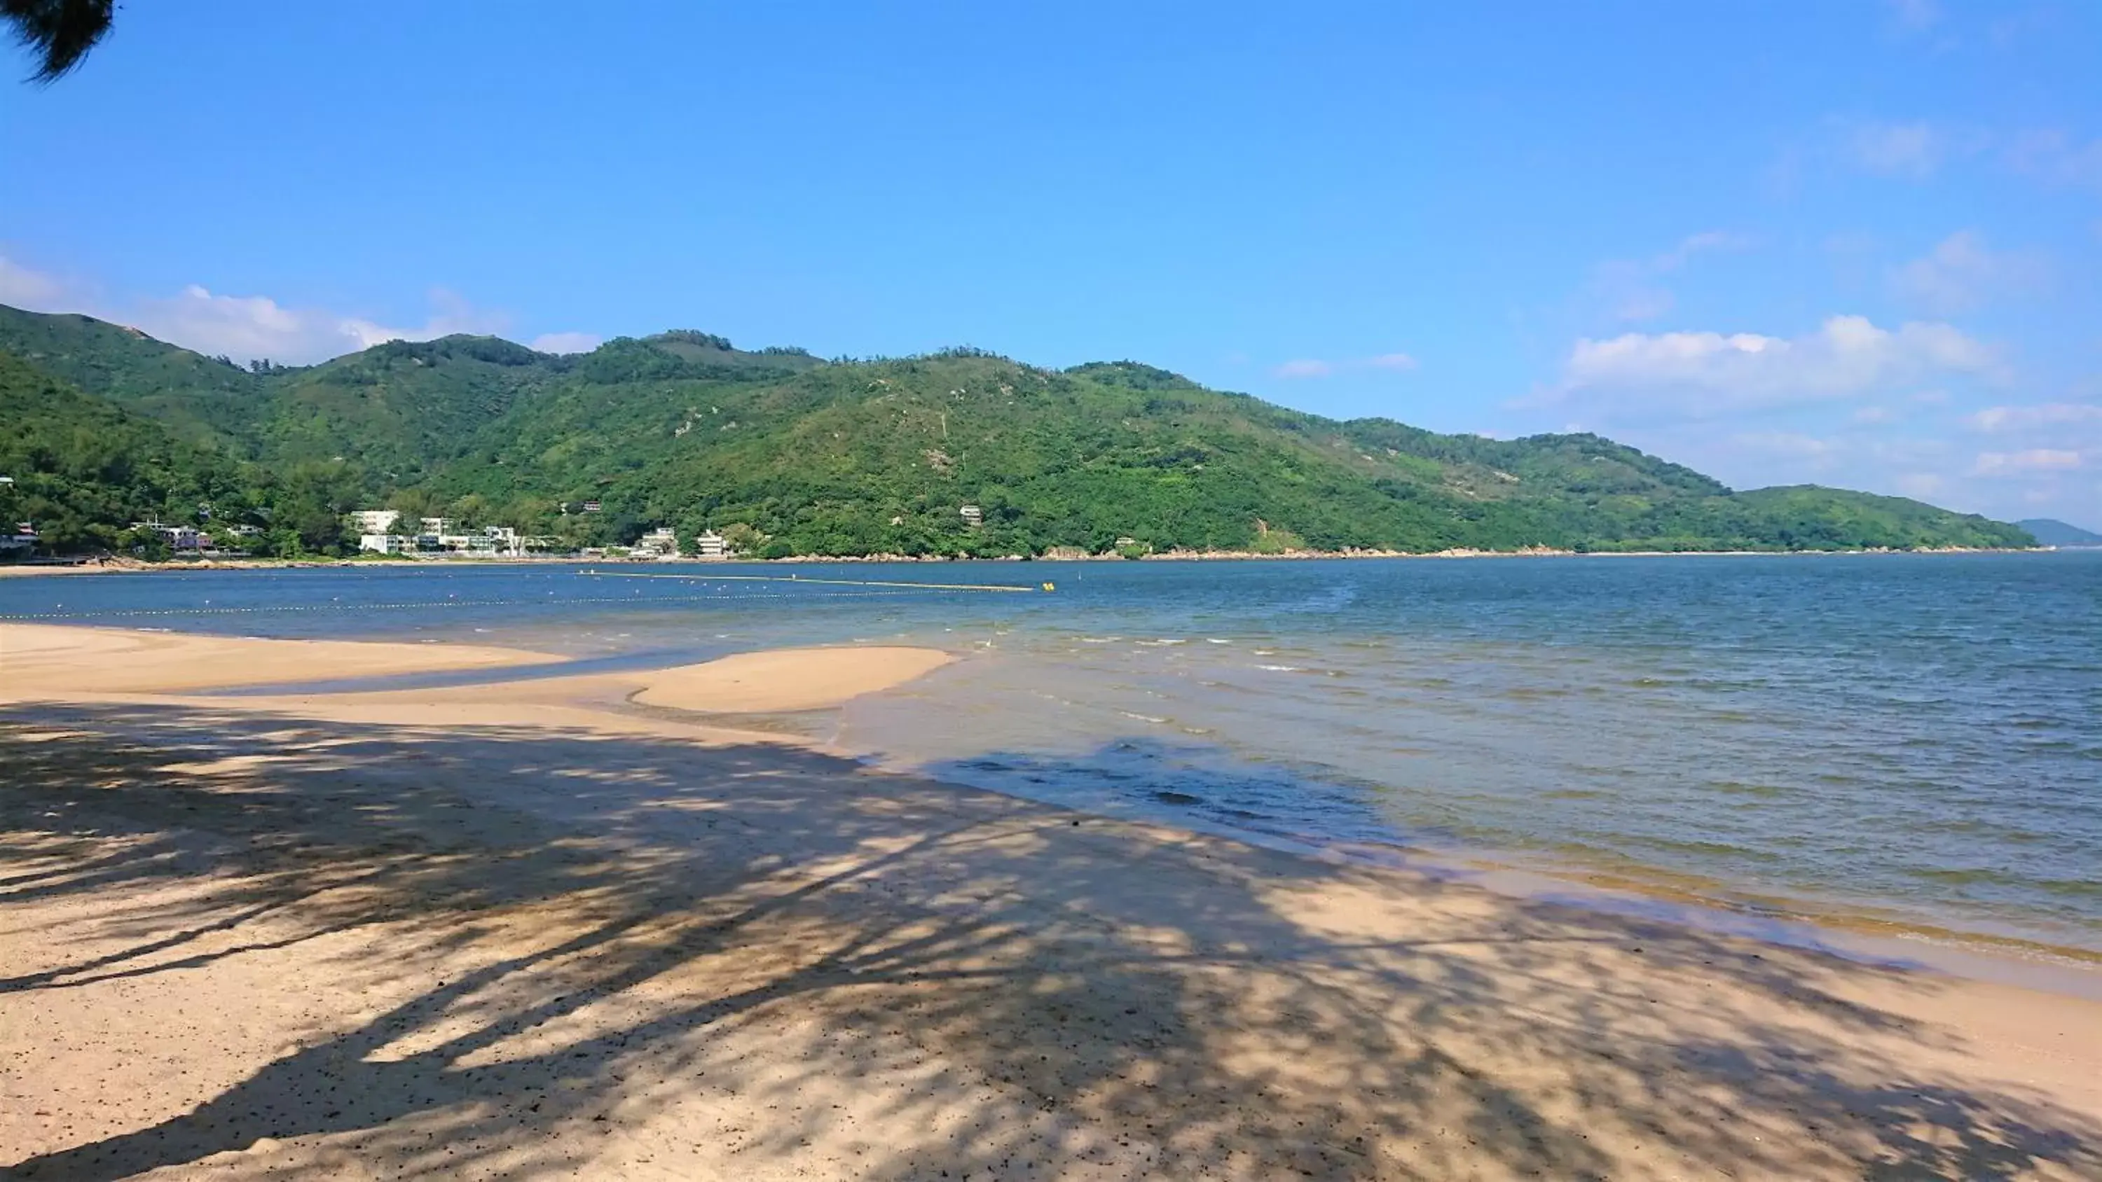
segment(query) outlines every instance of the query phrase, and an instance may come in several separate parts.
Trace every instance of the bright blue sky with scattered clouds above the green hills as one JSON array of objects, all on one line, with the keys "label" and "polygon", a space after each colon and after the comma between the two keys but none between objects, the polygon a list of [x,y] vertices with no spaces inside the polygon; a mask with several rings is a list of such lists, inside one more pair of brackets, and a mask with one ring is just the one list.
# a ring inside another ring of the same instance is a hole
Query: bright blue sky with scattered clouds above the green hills
[{"label": "bright blue sky with scattered clouds above the green hills", "polygon": [[2102,527],[2102,4],[574,13],[124,6],[0,90],[0,302],[1133,357]]}]

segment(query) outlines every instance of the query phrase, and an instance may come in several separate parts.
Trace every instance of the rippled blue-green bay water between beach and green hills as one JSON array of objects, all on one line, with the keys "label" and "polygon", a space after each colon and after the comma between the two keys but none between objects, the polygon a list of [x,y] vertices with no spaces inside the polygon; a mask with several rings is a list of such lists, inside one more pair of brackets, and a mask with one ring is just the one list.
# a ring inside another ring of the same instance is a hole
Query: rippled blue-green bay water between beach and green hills
[{"label": "rippled blue-green bay water between beach and green hills", "polygon": [[[641,571],[641,569],[637,569]],[[816,722],[1158,821],[2102,955],[2102,554],[572,567],[0,582],[0,615],[675,663],[971,659]]]}]

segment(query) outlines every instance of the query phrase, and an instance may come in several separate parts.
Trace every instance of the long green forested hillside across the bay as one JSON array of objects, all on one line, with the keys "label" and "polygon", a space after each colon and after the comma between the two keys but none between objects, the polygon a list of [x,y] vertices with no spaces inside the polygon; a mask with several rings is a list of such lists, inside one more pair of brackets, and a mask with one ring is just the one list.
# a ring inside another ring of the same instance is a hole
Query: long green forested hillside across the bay
[{"label": "long green forested hillside across the bay", "polygon": [[553,552],[759,558],[2026,548],[2060,525],[1732,491],[1598,435],[1331,420],[1135,361],[822,361],[685,330],[244,367],[0,307],[0,420],[15,556],[343,556],[380,508]]}]

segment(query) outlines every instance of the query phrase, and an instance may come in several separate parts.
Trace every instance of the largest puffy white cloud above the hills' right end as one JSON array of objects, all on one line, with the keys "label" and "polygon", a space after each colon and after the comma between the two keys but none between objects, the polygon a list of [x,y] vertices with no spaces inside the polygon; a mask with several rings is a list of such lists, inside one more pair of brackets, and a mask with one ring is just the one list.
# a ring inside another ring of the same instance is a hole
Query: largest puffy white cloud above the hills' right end
[{"label": "largest puffy white cloud above the hills' right end", "polygon": [[1913,321],[1883,330],[1867,317],[1841,315],[1795,338],[1755,332],[1583,338],[1562,365],[1562,384],[1543,401],[1713,416],[1860,397],[1938,374],[1993,376],[1997,370],[1986,344],[1946,323]]}]

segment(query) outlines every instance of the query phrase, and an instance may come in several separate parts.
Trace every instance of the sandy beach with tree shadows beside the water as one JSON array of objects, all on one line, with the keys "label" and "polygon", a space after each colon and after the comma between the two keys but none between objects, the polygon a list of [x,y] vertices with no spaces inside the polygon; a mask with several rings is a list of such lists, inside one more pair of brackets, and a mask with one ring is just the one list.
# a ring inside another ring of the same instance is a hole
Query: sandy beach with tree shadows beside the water
[{"label": "sandy beach with tree shadows beside the water", "polygon": [[0,1178],[2098,1178],[2102,1004],[870,771],[931,649],[0,624]]}]

